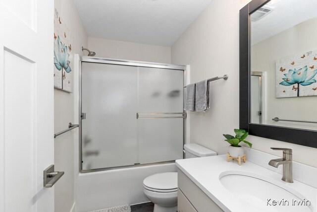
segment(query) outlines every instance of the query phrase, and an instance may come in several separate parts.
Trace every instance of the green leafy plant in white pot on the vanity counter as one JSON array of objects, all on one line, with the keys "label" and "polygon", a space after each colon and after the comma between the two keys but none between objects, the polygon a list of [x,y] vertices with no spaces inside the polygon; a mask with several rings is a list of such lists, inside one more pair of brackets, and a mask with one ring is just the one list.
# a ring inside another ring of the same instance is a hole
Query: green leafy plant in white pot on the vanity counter
[{"label": "green leafy plant in white pot on the vanity counter", "polygon": [[228,143],[231,145],[229,146],[229,154],[232,157],[238,157],[239,155],[242,157],[244,154],[244,150],[241,146],[239,146],[240,142],[244,142],[252,147],[252,143],[249,141],[245,141],[245,139],[248,137],[249,133],[247,133],[245,130],[239,130],[239,129],[234,129],[234,132],[236,136],[231,136],[228,134],[223,134],[223,136],[226,138]]}]

